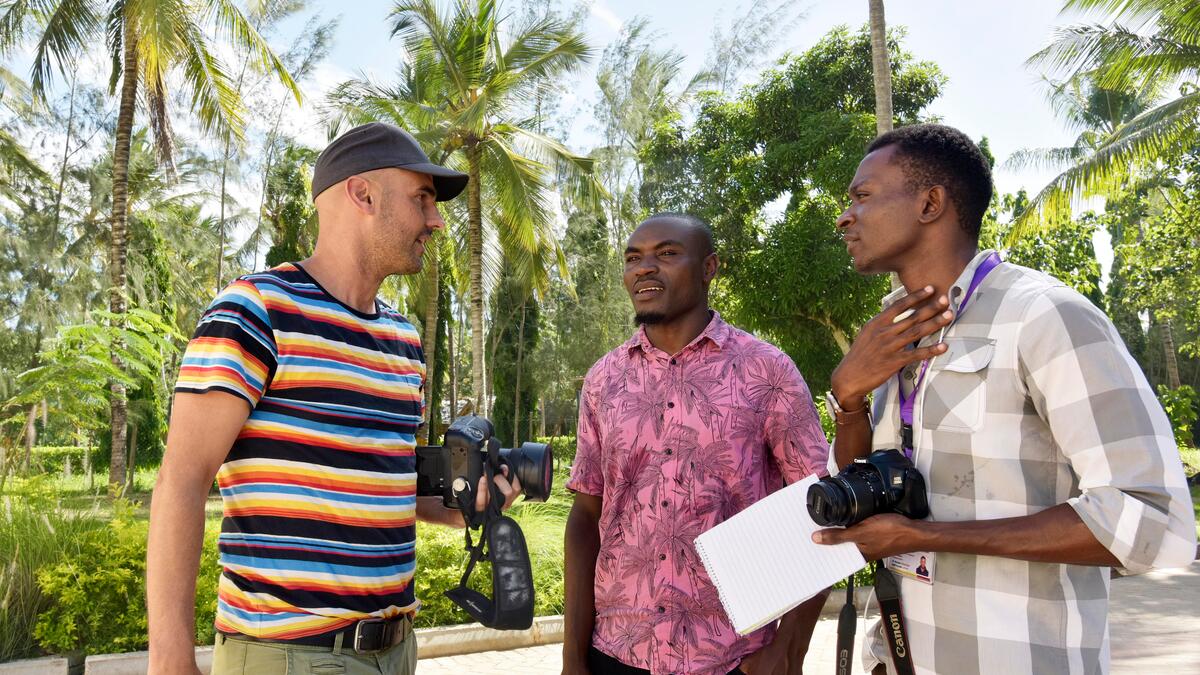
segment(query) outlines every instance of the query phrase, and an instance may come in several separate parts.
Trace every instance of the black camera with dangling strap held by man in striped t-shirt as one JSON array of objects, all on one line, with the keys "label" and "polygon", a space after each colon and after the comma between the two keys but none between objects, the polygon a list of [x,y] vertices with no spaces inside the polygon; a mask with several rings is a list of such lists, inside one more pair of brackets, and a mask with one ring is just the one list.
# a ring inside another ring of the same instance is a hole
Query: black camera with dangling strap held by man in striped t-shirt
[{"label": "black camera with dangling strap held by man in striped t-shirt", "polygon": [[[545,443],[524,443],[520,448],[500,448],[492,434],[492,423],[482,417],[460,417],[446,430],[442,446],[416,448],[416,495],[442,497],[446,508],[462,513],[467,524],[467,552],[470,558],[458,586],[445,592],[455,604],[488,628],[522,631],[533,626],[533,569],[524,533],[515,520],[500,513],[504,495],[492,480],[509,467],[509,477],[521,479],[529,501],[550,497],[554,455]],[[491,491],[482,513],[475,510],[479,479]],[[470,531],[482,527],[479,543]],[[492,563],[492,597],[467,587],[475,563]]]}]

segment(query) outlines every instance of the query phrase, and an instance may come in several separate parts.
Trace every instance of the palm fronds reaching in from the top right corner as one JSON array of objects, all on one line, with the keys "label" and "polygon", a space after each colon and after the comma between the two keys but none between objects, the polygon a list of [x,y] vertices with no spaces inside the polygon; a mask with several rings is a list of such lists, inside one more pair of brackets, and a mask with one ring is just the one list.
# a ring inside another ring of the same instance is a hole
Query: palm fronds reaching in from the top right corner
[{"label": "palm fronds reaching in from the top right corner", "polygon": [[1200,138],[1200,5],[1189,0],[1067,0],[1063,11],[1112,17],[1109,25],[1061,29],[1028,62],[1140,96],[1181,84],[1109,132],[1073,161],[1014,219],[1013,235],[1069,214],[1080,198],[1110,193],[1138,169],[1153,168]]}]

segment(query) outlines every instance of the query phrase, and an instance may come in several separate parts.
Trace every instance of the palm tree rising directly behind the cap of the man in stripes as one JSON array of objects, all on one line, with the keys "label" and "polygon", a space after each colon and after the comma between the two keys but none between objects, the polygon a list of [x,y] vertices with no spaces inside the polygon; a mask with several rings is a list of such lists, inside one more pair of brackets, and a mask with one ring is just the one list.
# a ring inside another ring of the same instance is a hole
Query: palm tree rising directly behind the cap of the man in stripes
[{"label": "palm tree rising directly behind the cap of the man in stripes", "polygon": [[[486,413],[484,368],[485,271],[494,281],[493,258],[485,269],[485,245],[498,244],[532,287],[548,285],[548,269],[565,258],[552,232],[550,184],[554,178],[581,193],[598,191],[589,180],[590,160],[539,133],[522,107],[550,79],[590,56],[583,36],[554,18],[502,25],[494,0],[458,0],[451,14],[433,0],[401,0],[392,8],[392,36],[407,60],[401,82],[383,88],[349,82],[332,95],[349,120],[400,124],[434,161],[470,175],[467,185],[466,243],[469,271],[472,382],[475,410]],[[434,295],[436,297],[436,295]]]}]

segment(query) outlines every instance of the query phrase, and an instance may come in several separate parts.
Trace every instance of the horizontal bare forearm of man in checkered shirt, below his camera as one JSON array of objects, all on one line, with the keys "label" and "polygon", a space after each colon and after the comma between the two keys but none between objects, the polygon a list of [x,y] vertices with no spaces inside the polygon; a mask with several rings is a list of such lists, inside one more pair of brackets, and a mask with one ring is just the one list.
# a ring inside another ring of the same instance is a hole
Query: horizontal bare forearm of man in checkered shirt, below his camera
[{"label": "horizontal bare forearm of man in checkered shirt, below his camera", "polygon": [[913,550],[991,555],[1064,565],[1116,567],[1075,509],[1058,504],[1033,515],[964,522],[914,521],[920,545]]}]

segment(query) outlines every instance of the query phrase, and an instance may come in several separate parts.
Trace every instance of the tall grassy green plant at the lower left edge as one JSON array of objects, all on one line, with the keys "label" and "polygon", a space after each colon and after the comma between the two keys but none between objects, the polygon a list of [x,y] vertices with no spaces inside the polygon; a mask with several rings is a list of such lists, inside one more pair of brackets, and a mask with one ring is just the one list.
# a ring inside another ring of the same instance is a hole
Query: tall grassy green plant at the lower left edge
[{"label": "tall grassy green plant at the lower left edge", "polygon": [[98,514],[64,510],[43,494],[0,502],[0,662],[41,655],[29,637],[54,599],[38,589],[37,571],[77,557],[101,528]]}]

